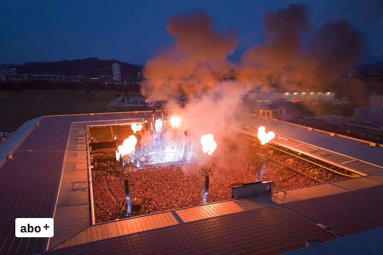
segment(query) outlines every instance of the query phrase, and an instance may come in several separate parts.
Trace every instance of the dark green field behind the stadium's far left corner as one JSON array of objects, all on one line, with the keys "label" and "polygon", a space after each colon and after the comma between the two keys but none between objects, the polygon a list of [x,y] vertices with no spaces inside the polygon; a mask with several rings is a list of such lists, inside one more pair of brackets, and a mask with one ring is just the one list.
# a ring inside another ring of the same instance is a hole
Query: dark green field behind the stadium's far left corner
[{"label": "dark green field behind the stadium's far left corner", "polygon": [[[43,115],[102,113],[116,99],[118,92],[82,90],[0,91],[0,132],[15,131],[25,121]],[[129,93],[132,95],[132,93]],[[118,107],[113,111],[143,111],[148,108]]]}]

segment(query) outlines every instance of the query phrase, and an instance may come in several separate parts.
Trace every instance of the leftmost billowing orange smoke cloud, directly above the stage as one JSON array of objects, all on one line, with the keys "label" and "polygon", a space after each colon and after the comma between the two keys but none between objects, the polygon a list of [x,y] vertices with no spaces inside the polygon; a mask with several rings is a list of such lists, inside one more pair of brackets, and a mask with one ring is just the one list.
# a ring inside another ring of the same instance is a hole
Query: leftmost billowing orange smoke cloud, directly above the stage
[{"label": "leftmost billowing orange smoke cloud, directly above the stage", "polygon": [[218,31],[207,12],[194,10],[169,18],[167,31],[174,47],[148,60],[143,72],[142,94],[149,101],[178,97],[180,88],[187,95],[201,92],[231,72],[226,57],[238,45],[234,29]]}]

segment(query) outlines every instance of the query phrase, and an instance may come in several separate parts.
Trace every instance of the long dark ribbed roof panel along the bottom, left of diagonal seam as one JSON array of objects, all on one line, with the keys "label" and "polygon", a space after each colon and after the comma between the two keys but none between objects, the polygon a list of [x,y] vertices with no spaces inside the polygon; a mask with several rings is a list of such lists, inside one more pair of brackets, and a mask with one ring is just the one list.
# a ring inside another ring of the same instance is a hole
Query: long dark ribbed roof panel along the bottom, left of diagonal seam
[{"label": "long dark ribbed roof panel along the bottom, left of diagonal seam", "polygon": [[281,206],[149,230],[44,254],[278,254],[308,239],[334,239]]}]

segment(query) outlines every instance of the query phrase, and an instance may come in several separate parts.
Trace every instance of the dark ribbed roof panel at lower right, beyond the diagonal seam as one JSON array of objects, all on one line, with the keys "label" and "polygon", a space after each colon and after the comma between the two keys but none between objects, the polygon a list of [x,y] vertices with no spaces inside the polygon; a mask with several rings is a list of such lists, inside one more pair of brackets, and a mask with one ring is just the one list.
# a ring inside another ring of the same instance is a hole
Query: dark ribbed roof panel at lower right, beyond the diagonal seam
[{"label": "dark ribbed roof panel at lower right, beyond the diagonal seam", "polygon": [[383,185],[284,204],[309,219],[352,235],[383,227]]}]

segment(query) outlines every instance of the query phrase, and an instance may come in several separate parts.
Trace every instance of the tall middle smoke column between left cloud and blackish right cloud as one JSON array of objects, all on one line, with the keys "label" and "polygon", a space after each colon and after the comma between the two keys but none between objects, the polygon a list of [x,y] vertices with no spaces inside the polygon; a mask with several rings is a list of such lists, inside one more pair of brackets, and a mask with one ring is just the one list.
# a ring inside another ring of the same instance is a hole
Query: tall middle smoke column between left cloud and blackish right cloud
[{"label": "tall middle smoke column between left cloud and blackish right cloud", "polygon": [[265,84],[300,62],[300,36],[310,31],[307,7],[290,5],[275,13],[266,13],[265,25],[263,35],[267,43],[246,52],[242,65],[237,69],[237,78],[242,82]]}]

